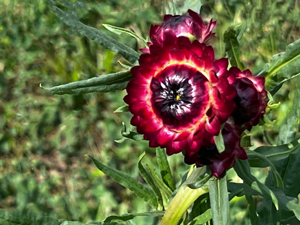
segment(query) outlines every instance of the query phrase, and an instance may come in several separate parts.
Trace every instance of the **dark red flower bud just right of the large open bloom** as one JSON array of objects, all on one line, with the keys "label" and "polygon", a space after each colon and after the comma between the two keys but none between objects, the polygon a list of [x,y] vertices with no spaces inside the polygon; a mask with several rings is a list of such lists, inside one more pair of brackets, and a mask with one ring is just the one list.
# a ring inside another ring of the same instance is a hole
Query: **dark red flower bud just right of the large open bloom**
[{"label": "dark red flower bud just right of the large open bloom", "polygon": [[237,67],[231,67],[229,72],[228,81],[237,91],[233,99],[236,104],[232,112],[234,123],[244,124],[250,130],[252,126],[257,125],[267,105],[267,92],[263,88],[264,77],[253,76],[249,69],[241,71]]}]

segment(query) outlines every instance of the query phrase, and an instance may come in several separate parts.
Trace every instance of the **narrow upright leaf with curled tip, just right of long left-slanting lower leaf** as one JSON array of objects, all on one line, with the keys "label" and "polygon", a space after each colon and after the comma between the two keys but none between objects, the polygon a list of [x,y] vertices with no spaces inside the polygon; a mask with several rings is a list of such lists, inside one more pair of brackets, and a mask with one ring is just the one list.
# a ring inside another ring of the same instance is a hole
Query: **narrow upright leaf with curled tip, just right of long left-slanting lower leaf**
[{"label": "narrow upright leaf with curled tip, just right of long left-slanting lower leaf", "polygon": [[140,173],[140,175],[143,177],[143,179],[146,181],[146,183],[151,187],[151,189],[154,191],[155,196],[157,198],[157,203],[158,203],[158,209],[163,207],[162,203],[162,197],[160,190],[158,187],[155,185],[152,177],[149,175],[149,173],[145,170],[143,165],[141,164],[141,159],[145,156],[145,152],[143,152],[141,155],[138,157],[138,162],[137,162],[137,168]]}]

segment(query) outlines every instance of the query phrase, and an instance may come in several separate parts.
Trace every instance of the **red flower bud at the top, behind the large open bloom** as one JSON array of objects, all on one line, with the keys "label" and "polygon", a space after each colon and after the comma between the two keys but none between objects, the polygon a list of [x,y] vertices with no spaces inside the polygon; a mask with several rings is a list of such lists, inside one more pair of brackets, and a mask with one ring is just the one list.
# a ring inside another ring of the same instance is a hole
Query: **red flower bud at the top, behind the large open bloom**
[{"label": "red flower bud at the top, behind the large open bloom", "polygon": [[[209,40],[214,35],[211,30],[215,26],[216,21],[212,21],[211,19],[210,22],[205,25],[198,13],[190,9],[188,9],[187,12],[188,15],[164,15],[161,25],[151,25],[149,34],[151,42],[148,42],[148,45],[152,43],[161,45],[167,32],[172,32],[177,37],[190,37],[192,35],[200,43],[205,43]],[[142,48],[140,50],[144,53],[149,53],[148,48]]]}]

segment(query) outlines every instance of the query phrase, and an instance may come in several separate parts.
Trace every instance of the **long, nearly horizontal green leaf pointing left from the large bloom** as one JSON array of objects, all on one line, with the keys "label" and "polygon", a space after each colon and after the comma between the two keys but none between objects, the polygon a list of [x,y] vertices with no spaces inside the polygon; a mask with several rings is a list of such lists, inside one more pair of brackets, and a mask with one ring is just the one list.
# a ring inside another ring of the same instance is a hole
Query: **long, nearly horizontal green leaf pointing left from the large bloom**
[{"label": "long, nearly horizontal green leaf pointing left from the large bloom", "polygon": [[46,91],[51,94],[83,94],[90,92],[109,92],[112,90],[125,89],[128,81],[131,79],[131,73],[129,70],[110,73],[97,77],[92,77],[85,80],[70,82],[50,88],[45,88]]}]

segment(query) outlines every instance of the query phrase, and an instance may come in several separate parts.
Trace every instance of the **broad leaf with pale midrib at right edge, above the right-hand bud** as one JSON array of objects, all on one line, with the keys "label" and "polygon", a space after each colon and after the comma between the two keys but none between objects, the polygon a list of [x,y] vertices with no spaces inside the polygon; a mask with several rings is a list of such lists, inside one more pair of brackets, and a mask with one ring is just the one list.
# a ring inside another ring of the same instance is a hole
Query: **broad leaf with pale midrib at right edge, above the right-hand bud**
[{"label": "broad leaf with pale midrib at right edge, above the right-hand bud", "polygon": [[282,82],[300,74],[300,39],[288,44],[285,52],[275,54],[258,73],[265,77],[264,88],[270,91]]}]

